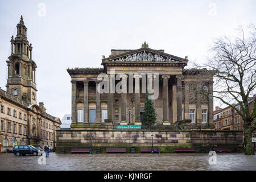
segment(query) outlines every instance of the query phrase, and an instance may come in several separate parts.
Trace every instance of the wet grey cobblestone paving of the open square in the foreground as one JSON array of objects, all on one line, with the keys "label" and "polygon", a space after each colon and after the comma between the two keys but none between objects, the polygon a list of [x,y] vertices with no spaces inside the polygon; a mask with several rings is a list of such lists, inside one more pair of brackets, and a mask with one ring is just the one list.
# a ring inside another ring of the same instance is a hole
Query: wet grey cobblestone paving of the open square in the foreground
[{"label": "wet grey cobblestone paving of the open square in the foreground", "polygon": [[55,154],[46,165],[40,156],[0,154],[0,170],[256,170],[256,155],[217,154],[210,165],[205,154]]}]

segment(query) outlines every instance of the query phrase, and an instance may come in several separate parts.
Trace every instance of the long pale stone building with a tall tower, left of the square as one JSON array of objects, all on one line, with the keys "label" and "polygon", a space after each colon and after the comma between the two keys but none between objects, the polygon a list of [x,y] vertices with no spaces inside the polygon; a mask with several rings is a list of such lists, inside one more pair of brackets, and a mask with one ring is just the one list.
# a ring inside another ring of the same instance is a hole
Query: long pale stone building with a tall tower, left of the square
[{"label": "long pale stone building with a tall tower, left of the square", "polygon": [[16,27],[17,35],[11,38],[11,55],[6,61],[7,92],[0,88],[1,151],[15,144],[49,144],[53,148],[61,121],[46,113],[43,102],[37,105],[37,67],[22,16]]}]

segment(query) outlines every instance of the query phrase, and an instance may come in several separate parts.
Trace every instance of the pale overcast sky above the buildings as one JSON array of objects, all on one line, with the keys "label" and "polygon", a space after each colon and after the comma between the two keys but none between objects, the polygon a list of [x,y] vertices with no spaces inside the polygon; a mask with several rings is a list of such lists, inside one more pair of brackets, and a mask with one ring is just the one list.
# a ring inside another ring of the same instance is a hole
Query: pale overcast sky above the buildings
[{"label": "pale overcast sky above the buildings", "polygon": [[[45,7],[45,9],[44,9]],[[110,49],[150,48],[204,61],[213,38],[256,24],[256,1],[13,1],[0,2],[0,86],[20,15],[38,65],[38,102],[62,118],[71,113],[67,68],[101,67]],[[45,11],[44,11],[45,10]],[[214,103],[216,106],[217,103]]]}]

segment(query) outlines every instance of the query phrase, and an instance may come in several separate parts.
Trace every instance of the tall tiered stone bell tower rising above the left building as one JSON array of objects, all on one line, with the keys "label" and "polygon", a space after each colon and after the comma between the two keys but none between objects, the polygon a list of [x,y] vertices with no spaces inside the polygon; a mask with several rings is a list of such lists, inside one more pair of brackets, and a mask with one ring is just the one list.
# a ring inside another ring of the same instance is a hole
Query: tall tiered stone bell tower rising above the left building
[{"label": "tall tiered stone bell tower rising above the left building", "polygon": [[32,44],[27,40],[27,27],[23,17],[17,24],[17,35],[11,37],[11,55],[6,61],[8,66],[7,92],[23,101],[36,104],[36,63],[32,60]]}]

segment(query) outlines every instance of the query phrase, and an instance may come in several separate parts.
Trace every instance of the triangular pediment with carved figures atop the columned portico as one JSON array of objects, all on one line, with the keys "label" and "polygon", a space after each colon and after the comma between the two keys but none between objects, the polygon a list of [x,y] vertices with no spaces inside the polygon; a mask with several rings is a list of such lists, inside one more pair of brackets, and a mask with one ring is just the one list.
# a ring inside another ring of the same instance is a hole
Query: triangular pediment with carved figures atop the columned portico
[{"label": "triangular pediment with carved figures atop the columned portico", "polygon": [[129,50],[115,56],[109,56],[102,59],[102,63],[124,63],[124,62],[169,62],[169,63],[187,63],[187,59],[173,56],[163,51],[143,47],[140,49]]}]

